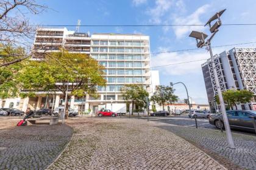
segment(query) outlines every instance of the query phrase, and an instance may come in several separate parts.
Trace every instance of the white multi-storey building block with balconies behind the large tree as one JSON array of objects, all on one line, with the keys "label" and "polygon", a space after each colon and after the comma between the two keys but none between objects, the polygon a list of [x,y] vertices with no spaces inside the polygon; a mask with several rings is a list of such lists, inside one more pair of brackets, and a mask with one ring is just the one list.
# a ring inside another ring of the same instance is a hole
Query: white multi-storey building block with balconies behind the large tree
[{"label": "white multi-storey building block with balconies behind the large tree", "polygon": [[[126,84],[141,84],[149,93],[152,83],[159,85],[158,72],[154,72],[155,80],[151,80],[149,36],[137,34],[115,33],[75,33],[64,29],[43,28],[37,30],[33,50],[37,54],[33,60],[40,60],[44,52],[57,52],[59,47],[65,47],[69,52],[86,53],[105,66],[104,78],[107,86],[98,87],[98,98],[87,95],[86,98],[71,97],[70,107],[77,110],[97,112],[101,107],[110,103],[126,106],[121,88]],[[16,102],[15,102],[16,101]],[[27,107],[40,109],[48,107],[54,109],[63,105],[64,97],[61,92],[46,96],[40,92],[35,98],[18,98],[18,100],[0,100],[0,106],[26,110]],[[116,106],[117,106],[116,105]],[[119,107],[118,106],[118,107]],[[113,108],[114,110],[114,108]]]}]

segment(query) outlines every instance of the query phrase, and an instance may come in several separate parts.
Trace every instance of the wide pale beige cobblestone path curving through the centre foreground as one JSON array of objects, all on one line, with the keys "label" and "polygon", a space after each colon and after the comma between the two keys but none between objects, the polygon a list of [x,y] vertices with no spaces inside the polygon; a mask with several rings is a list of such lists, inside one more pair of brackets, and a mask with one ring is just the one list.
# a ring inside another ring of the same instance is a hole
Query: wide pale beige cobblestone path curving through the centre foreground
[{"label": "wide pale beige cobblestone path curving through the centre foreground", "polygon": [[74,135],[49,169],[226,169],[142,119],[74,118],[68,125]]}]

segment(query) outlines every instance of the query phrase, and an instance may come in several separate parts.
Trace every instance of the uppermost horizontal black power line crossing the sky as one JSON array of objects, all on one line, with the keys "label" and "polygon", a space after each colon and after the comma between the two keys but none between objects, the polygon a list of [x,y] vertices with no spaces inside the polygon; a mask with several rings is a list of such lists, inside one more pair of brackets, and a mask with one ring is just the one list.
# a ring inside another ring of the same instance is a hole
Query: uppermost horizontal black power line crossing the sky
[{"label": "uppermost horizontal black power line crossing the sky", "polygon": [[[252,24],[222,24],[226,26],[231,25],[256,25],[254,23]],[[76,27],[77,25],[40,25],[41,27]],[[204,26],[204,24],[149,24],[149,25],[80,25],[80,27],[190,27],[190,26]]]}]

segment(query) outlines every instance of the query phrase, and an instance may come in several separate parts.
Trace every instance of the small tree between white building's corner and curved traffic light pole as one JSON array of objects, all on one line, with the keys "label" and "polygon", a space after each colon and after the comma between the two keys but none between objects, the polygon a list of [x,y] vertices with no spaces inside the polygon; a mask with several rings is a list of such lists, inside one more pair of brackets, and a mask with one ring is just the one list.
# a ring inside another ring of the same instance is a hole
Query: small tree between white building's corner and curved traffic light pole
[{"label": "small tree between white building's corner and curved traffic light pole", "polygon": [[171,86],[156,86],[155,92],[151,97],[151,101],[157,103],[165,110],[166,103],[177,101],[178,97],[174,95],[174,89]]}]

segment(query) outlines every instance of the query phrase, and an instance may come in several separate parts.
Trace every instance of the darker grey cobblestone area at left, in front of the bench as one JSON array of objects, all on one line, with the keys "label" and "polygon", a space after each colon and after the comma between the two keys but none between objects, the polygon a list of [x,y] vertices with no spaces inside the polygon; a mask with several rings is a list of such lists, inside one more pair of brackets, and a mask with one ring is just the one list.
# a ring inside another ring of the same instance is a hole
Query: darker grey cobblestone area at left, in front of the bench
[{"label": "darker grey cobblestone area at left, in front of the bench", "polygon": [[73,134],[61,124],[15,127],[19,120],[0,119],[0,169],[45,169]]}]

